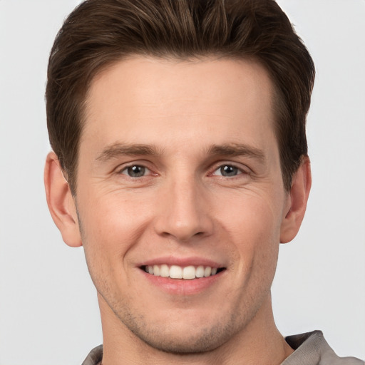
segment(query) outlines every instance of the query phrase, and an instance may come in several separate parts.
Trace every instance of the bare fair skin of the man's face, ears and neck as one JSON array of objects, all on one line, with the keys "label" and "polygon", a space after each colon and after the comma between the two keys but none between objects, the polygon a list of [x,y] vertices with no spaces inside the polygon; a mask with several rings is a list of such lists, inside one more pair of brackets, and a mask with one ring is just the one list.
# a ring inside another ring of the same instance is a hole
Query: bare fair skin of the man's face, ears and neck
[{"label": "bare fair skin of the man's face, ears and neck", "polygon": [[[292,352],[270,287],[311,179],[304,158],[284,190],[272,89],[257,63],[229,59],[136,56],[93,80],[76,197],[54,153],[45,181],[63,240],[85,249],[104,365],[280,364]],[[133,166],[144,173],[130,176]],[[205,260],[224,269],[203,287],[141,269]]]}]

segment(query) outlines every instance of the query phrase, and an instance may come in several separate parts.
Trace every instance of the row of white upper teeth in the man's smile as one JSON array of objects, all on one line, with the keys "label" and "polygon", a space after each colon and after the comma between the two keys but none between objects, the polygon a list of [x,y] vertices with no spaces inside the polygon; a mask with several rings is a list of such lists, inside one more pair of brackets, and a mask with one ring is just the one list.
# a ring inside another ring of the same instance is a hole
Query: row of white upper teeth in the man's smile
[{"label": "row of white upper teeth in the man's smile", "polygon": [[210,277],[217,274],[217,267],[210,266],[186,266],[180,267],[167,264],[145,266],[145,272],[156,277],[170,277],[172,279],[195,279],[195,277]]}]

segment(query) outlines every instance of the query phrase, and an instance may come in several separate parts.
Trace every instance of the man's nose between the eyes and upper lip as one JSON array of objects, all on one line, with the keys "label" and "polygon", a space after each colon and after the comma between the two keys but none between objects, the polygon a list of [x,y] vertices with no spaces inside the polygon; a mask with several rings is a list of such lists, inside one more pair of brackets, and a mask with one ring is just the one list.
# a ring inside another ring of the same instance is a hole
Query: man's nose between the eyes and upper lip
[{"label": "man's nose between the eyes and upper lip", "polygon": [[190,242],[212,234],[208,192],[195,178],[176,178],[160,189],[158,217],[155,231],[158,235],[178,242]]}]

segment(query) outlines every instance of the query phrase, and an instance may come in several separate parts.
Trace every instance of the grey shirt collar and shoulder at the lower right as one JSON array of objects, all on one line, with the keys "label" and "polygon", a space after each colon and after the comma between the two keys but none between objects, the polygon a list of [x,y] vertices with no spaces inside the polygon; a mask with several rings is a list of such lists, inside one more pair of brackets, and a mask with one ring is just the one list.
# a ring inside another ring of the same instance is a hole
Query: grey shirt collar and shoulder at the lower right
[{"label": "grey shirt collar and shoulder at the lower right", "polygon": [[354,357],[337,356],[322,331],[287,336],[285,340],[295,351],[282,365],[365,365]]}]

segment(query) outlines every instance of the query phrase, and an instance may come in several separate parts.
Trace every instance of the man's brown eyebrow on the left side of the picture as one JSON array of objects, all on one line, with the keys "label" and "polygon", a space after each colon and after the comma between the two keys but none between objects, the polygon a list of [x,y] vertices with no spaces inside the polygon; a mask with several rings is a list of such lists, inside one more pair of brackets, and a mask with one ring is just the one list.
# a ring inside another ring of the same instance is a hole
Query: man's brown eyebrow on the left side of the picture
[{"label": "man's brown eyebrow on the left side of the picture", "polygon": [[113,145],[108,145],[106,148],[104,148],[96,160],[107,161],[123,155],[160,155],[160,152],[154,145],[113,143]]}]

